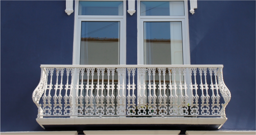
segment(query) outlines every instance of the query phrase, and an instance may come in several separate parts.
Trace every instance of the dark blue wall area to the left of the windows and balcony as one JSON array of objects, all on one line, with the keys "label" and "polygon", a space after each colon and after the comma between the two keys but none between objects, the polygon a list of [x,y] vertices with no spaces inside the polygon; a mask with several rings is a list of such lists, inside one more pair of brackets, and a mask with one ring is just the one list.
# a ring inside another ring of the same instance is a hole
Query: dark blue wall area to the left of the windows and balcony
[{"label": "dark blue wall area to the left of the windows and balcony", "polygon": [[42,131],[32,92],[41,64],[72,64],[66,1],[1,1],[1,132]]}]

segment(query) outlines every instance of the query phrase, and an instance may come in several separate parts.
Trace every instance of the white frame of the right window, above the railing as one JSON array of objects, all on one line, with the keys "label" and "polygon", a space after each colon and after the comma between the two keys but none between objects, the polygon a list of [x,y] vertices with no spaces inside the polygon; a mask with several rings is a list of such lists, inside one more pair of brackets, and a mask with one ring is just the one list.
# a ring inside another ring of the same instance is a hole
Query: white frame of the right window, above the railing
[{"label": "white frame of the right window, above the railing", "polygon": [[[150,0],[141,0],[141,1],[150,1]],[[159,0],[159,1],[182,1],[182,0]],[[190,65],[187,1],[184,1],[184,16],[140,16],[140,1],[138,1],[138,4],[137,4],[137,28],[138,28],[137,64],[138,65],[144,65],[143,22],[177,22],[177,21],[182,23],[183,64]]]}]

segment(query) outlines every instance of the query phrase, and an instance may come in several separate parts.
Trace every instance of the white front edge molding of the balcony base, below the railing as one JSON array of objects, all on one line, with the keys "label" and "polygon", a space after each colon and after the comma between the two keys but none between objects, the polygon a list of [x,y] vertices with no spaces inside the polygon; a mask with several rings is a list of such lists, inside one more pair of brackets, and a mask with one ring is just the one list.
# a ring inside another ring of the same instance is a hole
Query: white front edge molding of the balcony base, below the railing
[{"label": "white front edge molding of the balcony base, below the railing", "polygon": [[193,124],[193,125],[220,125],[227,121],[227,118],[189,118],[189,117],[81,117],[81,118],[37,118],[38,124],[43,125],[99,125],[99,124]]}]

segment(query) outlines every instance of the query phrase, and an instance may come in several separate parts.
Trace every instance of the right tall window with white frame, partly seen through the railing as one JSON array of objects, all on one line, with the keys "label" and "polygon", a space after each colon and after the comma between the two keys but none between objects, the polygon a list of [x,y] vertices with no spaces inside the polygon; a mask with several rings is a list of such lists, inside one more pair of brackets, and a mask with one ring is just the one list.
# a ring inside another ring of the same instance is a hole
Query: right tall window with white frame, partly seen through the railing
[{"label": "right tall window with white frame, partly seen through the railing", "polygon": [[[187,1],[138,1],[138,64],[190,64],[188,35]],[[168,70],[165,75],[165,82],[169,83]],[[174,80],[174,76],[171,77]],[[176,74],[175,77],[179,78],[179,75]],[[146,84],[153,83],[153,76],[150,78],[151,80],[147,75]],[[155,81],[159,82],[159,79],[156,75]],[[174,84],[174,82],[171,83]],[[179,83],[180,80],[176,79],[176,84]],[[181,83],[184,84],[183,77],[181,77]],[[156,92],[159,94],[158,86],[156,87]],[[170,94],[169,89],[165,92],[166,95]],[[148,93],[147,89],[147,96]],[[153,93],[152,90],[151,93]],[[181,94],[184,95],[184,92],[177,91],[178,97]]]}]

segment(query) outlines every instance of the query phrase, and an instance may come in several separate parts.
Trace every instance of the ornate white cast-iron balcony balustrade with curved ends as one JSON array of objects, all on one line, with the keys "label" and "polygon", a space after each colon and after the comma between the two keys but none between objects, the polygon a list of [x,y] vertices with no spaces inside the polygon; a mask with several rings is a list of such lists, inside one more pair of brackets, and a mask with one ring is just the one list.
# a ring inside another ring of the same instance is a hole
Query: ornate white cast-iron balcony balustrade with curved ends
[{"label": "ornate white cast-iron balcony balustrade with curved ends", "polygon": [[[40,82],[32,99],[38,107],[37,121],[41,126],[57,118],[65,122],[119,118],[125,119],[126,124],[143,124],[136,123],[136,118],[157,121],[163,117],[168,118],[165,121],[183,119],[190,124],[202,124],[193,121],[212,117],[221,119],[215,122],[221,126],[227,120],[225,107],[231,97],[222,68],[223,65],[41,65]],[[113,123],[106,120],[106,124]]]}]

